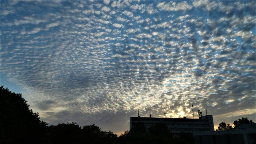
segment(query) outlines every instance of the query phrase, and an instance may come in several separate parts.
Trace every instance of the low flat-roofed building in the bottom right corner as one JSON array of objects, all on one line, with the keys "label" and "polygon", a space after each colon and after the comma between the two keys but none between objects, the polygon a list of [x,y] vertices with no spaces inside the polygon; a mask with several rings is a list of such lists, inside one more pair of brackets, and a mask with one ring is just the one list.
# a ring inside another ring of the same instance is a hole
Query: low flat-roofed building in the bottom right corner
[{"label": "low flat-roofed building in the bottom right corner", "polygon": [[195,144],[256,144],[256,128],[194,132]]}]

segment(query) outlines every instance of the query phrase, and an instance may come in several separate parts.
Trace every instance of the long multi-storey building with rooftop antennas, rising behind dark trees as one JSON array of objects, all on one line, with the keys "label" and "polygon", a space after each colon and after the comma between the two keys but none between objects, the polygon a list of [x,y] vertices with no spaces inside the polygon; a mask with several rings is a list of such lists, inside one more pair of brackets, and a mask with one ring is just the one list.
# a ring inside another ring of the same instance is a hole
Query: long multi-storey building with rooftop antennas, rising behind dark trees
[{"label": "long multi-storey building with rooftop antennas, rising behind dark trees", "polygon": [[136,123],[143,123],[149,129],[157,123],[165,123],[172,133],[214,131],[212,115],[201,116],[199,119],[160,118],[160,117],[130,117],[130,130]]}]

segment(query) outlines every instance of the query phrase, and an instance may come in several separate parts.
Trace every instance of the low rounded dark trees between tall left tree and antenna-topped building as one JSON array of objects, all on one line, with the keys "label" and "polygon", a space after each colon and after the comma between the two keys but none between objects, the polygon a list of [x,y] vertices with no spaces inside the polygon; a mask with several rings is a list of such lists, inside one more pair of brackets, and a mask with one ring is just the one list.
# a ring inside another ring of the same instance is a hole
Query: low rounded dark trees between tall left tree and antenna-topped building
[{"label": "low rounded dark trees between tall left tree and antenna-topped building", "polygon": [[115,144],[117,135],[111,131],[105,132],[95,124],[85,125],[72,122],[67,124],[51,125],[50,141],[52,144]]}]

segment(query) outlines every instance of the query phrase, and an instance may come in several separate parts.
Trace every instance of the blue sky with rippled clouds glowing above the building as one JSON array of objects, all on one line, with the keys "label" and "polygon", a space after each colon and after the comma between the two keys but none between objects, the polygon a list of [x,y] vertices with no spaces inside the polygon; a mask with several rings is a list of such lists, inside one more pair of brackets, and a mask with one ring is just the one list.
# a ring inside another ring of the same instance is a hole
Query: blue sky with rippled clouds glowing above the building
[{"label": "blue sky with rippled clouds glowing above the building", "polygon": [[256,121],[256,1],[1,0],[1,85],[40,119]]}]

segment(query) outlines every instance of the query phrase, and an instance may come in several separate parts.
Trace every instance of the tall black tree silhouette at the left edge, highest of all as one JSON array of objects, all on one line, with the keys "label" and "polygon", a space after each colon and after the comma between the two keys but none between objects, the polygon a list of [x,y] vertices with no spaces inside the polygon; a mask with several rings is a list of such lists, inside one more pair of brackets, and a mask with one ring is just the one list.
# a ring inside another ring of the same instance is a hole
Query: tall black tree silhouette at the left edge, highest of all
[{"label": "tall black tree silhouette at the left edge, highest of all", "polygon": [[44,143],[46,125],[20,93],[0,87],[0,143]]}]

